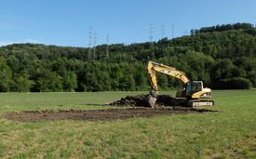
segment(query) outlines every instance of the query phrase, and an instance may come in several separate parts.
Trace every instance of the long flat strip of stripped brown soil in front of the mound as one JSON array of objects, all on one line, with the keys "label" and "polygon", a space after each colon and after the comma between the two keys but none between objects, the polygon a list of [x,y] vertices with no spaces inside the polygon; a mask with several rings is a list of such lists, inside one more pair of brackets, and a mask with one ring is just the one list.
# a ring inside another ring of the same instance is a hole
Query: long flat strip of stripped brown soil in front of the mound
[{"label": "long flat strip of stripped brown soil in front of the mound", "polygon": [[80,121],[105,121],[128,119],[134,117],[153,117],[155,115],[164,114],[170,115],[172,113],[205,113],[217,112],[206,109],[194,108],[116,108],[116,109],[99,109],[99,110],[45,110],[45,111],[21,111],[12,113],[0,113],[0,116],[15,120],[18,122],[42,122],[55,120],[80,120]]}]

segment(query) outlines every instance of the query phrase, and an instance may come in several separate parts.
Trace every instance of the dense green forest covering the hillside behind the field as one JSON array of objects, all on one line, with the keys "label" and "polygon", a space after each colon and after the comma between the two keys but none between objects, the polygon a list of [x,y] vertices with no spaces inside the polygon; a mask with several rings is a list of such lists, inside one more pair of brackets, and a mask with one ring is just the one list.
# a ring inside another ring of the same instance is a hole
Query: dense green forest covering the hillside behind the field
[{"label": "dense green forest covering the hillside behind the field", "polygon": [[[13,44],[0,47],[0,92],[150,90],[147,62],[186,73],[212,89],[256,87],[256,28],[249,23],[191,30],[158,42],[94,48]],[[179,80],[157,73],[159,90]]]}]

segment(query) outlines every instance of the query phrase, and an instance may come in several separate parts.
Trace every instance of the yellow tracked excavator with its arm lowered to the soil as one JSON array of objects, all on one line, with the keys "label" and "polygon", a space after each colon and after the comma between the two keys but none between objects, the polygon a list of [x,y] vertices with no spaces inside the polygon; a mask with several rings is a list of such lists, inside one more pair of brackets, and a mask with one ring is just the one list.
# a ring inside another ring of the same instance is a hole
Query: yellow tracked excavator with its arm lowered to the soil
[{"label": "yellow tracked excavator with its arm lowered to the soil", "polygon": [[208,100],[211,98],[211,90],[210,88],[203,87],[202,81],[190,81],[185,73],[182,73],[175,68],[168,67],[162,63],[156,63],[154,61],[149,60],[148,62],[148,76],[150,80],[150,84],[152,86],[152,90],[149,96],[145,96],[142,100],[146,103],[146,105],[155,107],[155,102],[158,97],[158,87],[156,81],[155,73],[164,73],[175,78],[178,78],[182,84],[182,90],[177,91],[176,98],[186,98],[186,99],[177,99],[175,105],[179,105],[180,103],[185,103],[189,107],[202,107],[202,106],[213,106],[214,101]]}]

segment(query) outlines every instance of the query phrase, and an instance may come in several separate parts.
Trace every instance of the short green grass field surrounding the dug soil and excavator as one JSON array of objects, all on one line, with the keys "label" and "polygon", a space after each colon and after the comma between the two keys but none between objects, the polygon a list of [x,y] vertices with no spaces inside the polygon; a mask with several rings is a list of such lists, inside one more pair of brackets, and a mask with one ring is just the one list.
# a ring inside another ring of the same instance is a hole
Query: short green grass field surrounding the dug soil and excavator
[{"label": "short green grass field surrounding the dug soil and excavator", "polygon": [[[0,94],[0,112],[100,109],[147,92]],[[175,92],[160,92],[175,95]],[[220,113],[83,122],[0,119],[2,158],[256,158],[256,91],[213,90]]]}]

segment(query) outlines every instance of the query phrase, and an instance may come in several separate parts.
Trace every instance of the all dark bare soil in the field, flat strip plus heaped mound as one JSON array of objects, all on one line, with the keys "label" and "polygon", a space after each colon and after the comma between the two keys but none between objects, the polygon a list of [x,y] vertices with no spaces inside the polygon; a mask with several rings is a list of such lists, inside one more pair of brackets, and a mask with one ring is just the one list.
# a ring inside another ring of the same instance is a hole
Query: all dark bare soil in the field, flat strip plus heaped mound
[{"label": "all dark bare soil in the field, flat strip plus heaped mound", "polygon": [[127,96],[125,99],[110,103],[111,106],[129,106],[129,108],[112,108],[98,110],[45,110],[45,111],[21,111],[11,113],[0,113],[0,116],[24,122],[43,122],[55,120],[80,120],[80,121],[106,121],[128,119],[134,117],[153,117],[155,115],[170,115],[172,113],[206,113],[218,112],[207,109],[195,109],[186,107],[165,107],[170,106],[175,98],[170,95],[160,95],[155,103],[155,108],[146,108],[143,105],[142,98],[146,95]]}]

